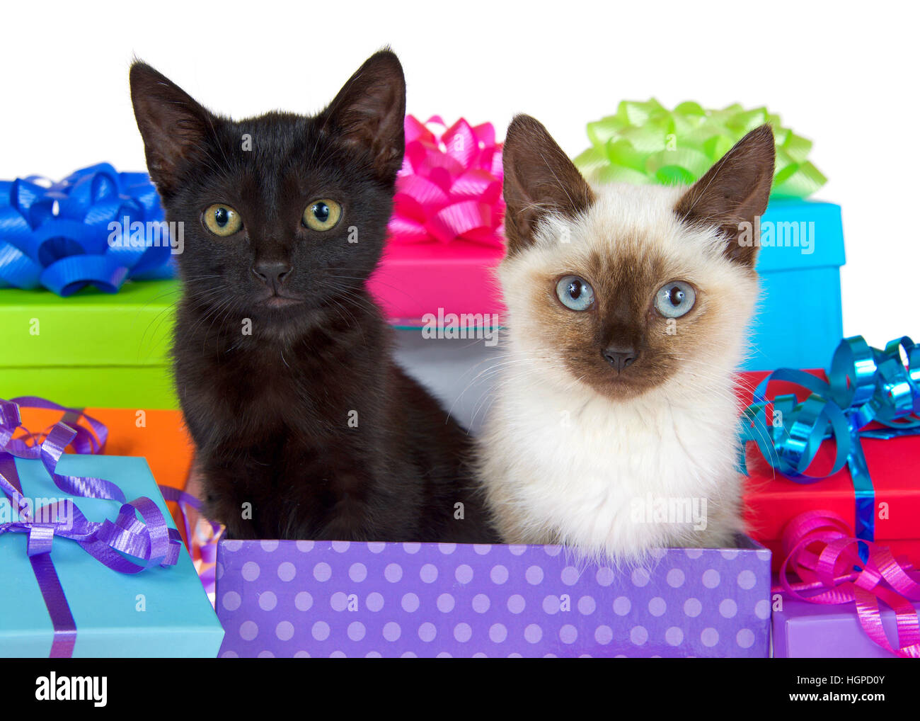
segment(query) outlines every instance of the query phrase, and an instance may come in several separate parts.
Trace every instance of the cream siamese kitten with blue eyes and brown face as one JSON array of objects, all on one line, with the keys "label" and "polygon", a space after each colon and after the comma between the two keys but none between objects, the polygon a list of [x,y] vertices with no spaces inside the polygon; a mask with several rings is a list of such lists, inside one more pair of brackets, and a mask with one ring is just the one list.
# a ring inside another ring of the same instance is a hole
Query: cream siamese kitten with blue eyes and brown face
[{"label": "cream siamese kitten with blue eyes and brown face", "polygon": [[692,187],[592,187],[543,125],[513,120],[509,357],[480,462],[504,541],[614,563],[733,545],[733,374],[758,295],[742,224],[765,211],[774,157],[764,125]]}]

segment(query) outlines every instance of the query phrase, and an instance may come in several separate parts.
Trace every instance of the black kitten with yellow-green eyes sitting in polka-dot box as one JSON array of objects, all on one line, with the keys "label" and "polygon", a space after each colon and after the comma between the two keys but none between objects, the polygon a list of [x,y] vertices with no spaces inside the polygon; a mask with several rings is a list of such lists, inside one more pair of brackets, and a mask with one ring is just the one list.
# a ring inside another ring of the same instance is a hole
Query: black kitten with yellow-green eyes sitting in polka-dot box
[{"label": "black kitten with yellow-green eyes sitting in polka-dot box", "polygon": [[405,149],[397,56],[314,117],[234,122],[143,63],[131,91],[184,222],[173,355],[208,515],[238,539],[496,541],[466,433],[395,365],[364,287]]}]

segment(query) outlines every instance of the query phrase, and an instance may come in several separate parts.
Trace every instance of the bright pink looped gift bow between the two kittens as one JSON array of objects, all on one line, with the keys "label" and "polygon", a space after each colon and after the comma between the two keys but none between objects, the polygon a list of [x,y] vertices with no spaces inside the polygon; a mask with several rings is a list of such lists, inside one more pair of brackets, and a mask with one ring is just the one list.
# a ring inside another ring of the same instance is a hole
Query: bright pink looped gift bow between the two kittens
[{"label": "bright pink looped gift bow between the two kittens", "polygon": [[407,115],[405,129],[390,242],[462,238],[503,247],[501,144],[491,123],[461,118],[447,128],[437,115],[428,122]]}]

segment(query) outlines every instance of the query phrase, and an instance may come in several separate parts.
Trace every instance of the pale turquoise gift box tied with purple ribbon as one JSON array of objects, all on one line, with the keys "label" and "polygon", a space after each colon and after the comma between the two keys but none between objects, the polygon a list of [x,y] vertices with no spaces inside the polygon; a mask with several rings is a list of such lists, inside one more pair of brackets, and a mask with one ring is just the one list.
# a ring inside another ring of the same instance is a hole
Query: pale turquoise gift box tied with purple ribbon
[{"label": "pale turquoise gift box tied with purple ribbon", "polygon": [[[23,495],[73,498],[91,521],[113,518],[114,501],[70,496],[52,482],[40,460],[16,459]],[[57,472],[97,476],[129,498],[146,496],[175,528],[166,502],[143,458],[65,454]],[[0,493],[0,518],[10,517]],[[0,657],[48,657],[53,627],[26,555],[24,533],[0,535]],[[224,639],[211,602],[182,548],[178,563],[139,574],[121,574],[99,563],[74,541],[55,538],[51,551],[76,624],[74,657],[216,657]]]}]

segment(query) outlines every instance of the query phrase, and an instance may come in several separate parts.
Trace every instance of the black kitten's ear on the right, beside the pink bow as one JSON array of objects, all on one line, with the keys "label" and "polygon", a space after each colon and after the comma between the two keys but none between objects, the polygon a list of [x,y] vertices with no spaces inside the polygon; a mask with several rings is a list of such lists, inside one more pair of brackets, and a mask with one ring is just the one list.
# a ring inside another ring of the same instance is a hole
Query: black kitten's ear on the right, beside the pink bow
[{"label": "black kitten's ear on the right, beside the pink bow", "polygon": [[394,52],[375,52],[323,110],[324,124],[374,158],[377,177],[396,180],[406,150],[406,79]]}]

